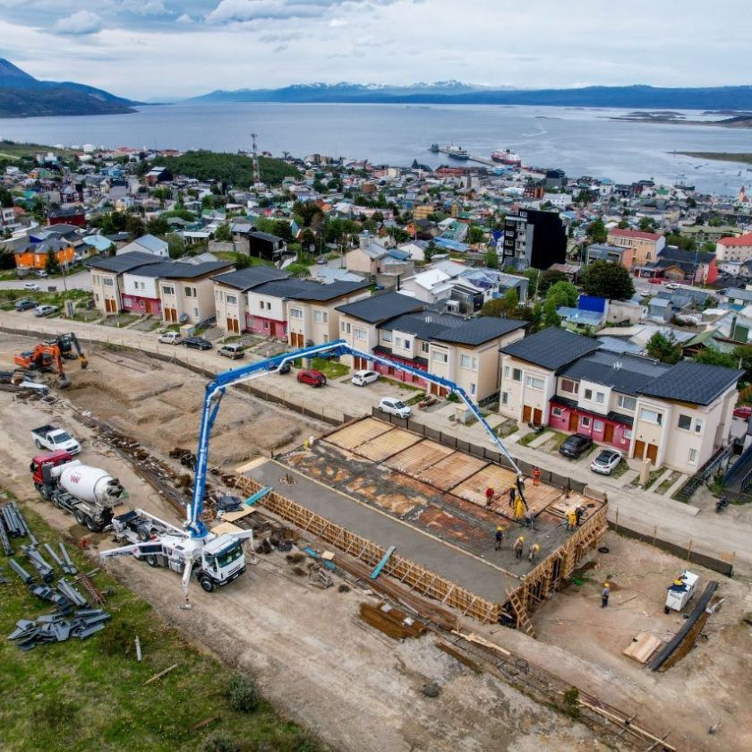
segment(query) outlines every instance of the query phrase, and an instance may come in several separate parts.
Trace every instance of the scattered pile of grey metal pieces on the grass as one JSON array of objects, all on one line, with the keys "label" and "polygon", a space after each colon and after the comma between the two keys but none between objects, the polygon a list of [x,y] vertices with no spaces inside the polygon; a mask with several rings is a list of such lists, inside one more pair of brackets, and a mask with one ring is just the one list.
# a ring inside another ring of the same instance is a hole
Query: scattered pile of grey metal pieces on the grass
[{"label": "scattered pile of grey metal pieces on the grass", "polygon": [[[13,556],[11,540],[22,537],[28,537],[30,540],[30,543],[21,545],[21,552],[36,570],[36,574],[30,574],[30,571],[23,568],[15,559],[9,560],[10,567],[29,588],[30,594],[54,604],[56,610],[39,616],[36,620],[18,620],[8,639],[13,640],[21,650],[32,650],[37,645],[64,642],[69,637],[83,640],[104,629],[111,616],[107,611],[91,607],[95,603],[104,603],[104,597],[91,583],[90,577],[83,572],[78,574],[62,542],[59,554],[49,543],[43,544],[50,560],[54,562],[50,564],[40,551],[39,542],[31,533],[21,509],[15,501],[11,501],[0,507],[0,543],[6,556]],[[56,579],[55,567],[64,575],[78,577],[73,582],[69,582],[66,577],[60,577],[57,584],[52,585]],[[76,585],[82,585],[89,598],[84,597]]]}]

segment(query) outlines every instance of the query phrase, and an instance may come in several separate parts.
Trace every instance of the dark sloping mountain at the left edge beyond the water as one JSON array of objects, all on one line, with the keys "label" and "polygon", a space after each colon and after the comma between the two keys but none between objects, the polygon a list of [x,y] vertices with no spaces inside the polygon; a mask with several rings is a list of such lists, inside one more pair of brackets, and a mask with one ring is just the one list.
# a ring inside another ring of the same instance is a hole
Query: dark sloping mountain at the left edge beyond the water
[{"label": "dark sloping mountain at the left edge beyond the water", "polygon": [[138,104],[83,83],[39,81],[0,58],[0,117],[117,115]]}]

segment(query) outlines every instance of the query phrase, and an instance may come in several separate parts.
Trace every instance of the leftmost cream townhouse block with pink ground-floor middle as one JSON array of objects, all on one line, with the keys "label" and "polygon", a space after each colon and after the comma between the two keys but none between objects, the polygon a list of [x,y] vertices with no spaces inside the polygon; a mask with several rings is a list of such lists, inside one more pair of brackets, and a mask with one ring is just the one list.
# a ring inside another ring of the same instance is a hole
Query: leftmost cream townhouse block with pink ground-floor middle
[{"label": "leftmost cream townhouse block with pink ground-floor middle", "polygon": [[90,261],[91,291],[104,313],[125,311],[198,324],[215,315],[212,278],[230,269],[228,261],[169,261],[133,251]]}]

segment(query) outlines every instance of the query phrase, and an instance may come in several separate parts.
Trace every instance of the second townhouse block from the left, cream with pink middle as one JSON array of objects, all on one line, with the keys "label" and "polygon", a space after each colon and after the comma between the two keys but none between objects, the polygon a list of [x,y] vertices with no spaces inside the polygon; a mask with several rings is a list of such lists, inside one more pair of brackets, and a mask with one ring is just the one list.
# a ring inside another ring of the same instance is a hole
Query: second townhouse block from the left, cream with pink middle
[{"label": "second townhouse block from the left, cream with pink middle", "polygon": [[266,266],[239,269],[214,278],[217,324],[286,339],[293,347],[320,345],[338,338],[337,306],[370,295],[368,282],[289,278]]}]

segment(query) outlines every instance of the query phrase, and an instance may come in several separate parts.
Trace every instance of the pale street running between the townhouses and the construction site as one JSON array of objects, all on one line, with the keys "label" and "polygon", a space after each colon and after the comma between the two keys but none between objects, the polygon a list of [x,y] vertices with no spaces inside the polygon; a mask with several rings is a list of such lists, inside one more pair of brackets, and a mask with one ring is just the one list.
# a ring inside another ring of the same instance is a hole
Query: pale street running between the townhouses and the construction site
[{"label": "pale street running between the townhouses and the construction site", "polygon": [[[113,329],[97,324],[85,324],[61,319],[36,319],[28,313],[0,312],[0,326],[13,329],[30,329],[49,333],[74,329],[84,342],[110,342],[132,346],[144,352],[158,352],[175,356],[175,360],[201,366],[214,372],[225,371],[237,363],[228,363],[226,358],[217,355],[215,350],[186,350],[181,346],[159,345],[155,334],[146,334],[131,329]],[[263,387],[269,394],[285,397],[299,405],[320,410],[322,414],[341,418],[343,413],[350,415],[370,414],[372,406],[384,395],[394,395],[397,389],[389,383],[377,382],[361,388],[350,384],[329,381],[324,389],[312,389],[299,384],[295,376],[269,375],[269,378],[256,380],[255,387]],[[432,428],[451,431],[457,438],[473,441],[475,444],[488,444],[491,440],[483,428],[461,426],[449,423],[446,411],[416,411],[416,418]],[[625,478],[612,479],[595,475],[588,462],[572,462],[559,455],[510,444],[511,454],[553,472],[588,483],[595,489],[607,491],[609,496],[609,518],[618,519],[621,524],[637,529],[645,534],[655,534],[693,551],[700,551],[716,557],[733,560],[740,575],[752,576],[752,509],[733,507],[722,515],[715,514],[712,508],[697,512],[696,507],[681,504],[650,491],[642,491],[625,485]]]}]

